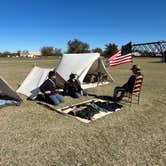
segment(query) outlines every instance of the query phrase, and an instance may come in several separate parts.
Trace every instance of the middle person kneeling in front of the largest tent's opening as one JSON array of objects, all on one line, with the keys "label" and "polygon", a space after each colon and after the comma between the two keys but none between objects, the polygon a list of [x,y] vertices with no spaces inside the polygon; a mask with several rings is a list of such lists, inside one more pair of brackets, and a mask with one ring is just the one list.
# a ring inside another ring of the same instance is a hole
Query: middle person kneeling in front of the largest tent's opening
[{"label": "middle person kneeling in front of the largest tent's opening", "polygon": [[76,74],[71,73],[69,77],[69,80],[64,84],[64,92],[74,98],[80,98],[83,95],[86,96],[87,90],[81,88]]}]

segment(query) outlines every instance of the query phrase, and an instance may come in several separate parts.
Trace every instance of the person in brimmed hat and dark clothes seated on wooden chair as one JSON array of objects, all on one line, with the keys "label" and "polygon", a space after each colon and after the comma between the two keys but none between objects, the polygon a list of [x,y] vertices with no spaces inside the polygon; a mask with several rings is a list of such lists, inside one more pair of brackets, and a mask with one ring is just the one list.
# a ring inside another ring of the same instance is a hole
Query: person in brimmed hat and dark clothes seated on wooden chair
[{"label": "person in brimmed hat and dark clothes seated on wooden chair", "polygon": [[[123,86],[115,87],[113,99],[121,100],[124,97],[125,92],[132,92],[135,83],[135,78],[136,76],[141,75],[141,69],[138,65],[133,65],[131,70],[133,74],[130,76],[127,83],[125,83]],[[119,92],[121,92],[120,97],[117,97]]]}]

